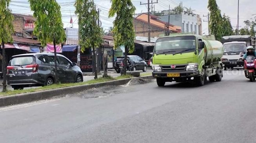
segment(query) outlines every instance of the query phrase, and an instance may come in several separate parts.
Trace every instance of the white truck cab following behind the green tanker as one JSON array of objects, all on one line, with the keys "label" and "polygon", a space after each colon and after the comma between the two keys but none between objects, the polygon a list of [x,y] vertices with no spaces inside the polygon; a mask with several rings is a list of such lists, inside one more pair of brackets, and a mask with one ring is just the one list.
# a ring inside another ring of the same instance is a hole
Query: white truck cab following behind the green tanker
[{"label": "white truck cab following behind the green tanker", "polygon": [[224,54],[222,63],[224,70],[228,68],[243,66],[242,57],[246,53],[247,43],[245,41],[232,41],[223,44]]}]

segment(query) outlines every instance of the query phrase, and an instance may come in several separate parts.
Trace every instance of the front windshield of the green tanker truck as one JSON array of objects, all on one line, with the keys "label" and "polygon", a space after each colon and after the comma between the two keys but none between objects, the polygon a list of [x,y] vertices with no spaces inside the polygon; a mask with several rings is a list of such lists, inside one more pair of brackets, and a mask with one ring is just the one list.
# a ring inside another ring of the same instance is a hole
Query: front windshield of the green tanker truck
[{"label": "front windshield of the green tanker truck", "polygon": [[160,38],[156,41],[156,44],[154,47],[154,53],[155,54],[162,54],[162,53],[173,54],[181,51],[185,51],[185,52],[192,51],[187,49],[196,50],[195,36],[176,36],[176,37]]}]

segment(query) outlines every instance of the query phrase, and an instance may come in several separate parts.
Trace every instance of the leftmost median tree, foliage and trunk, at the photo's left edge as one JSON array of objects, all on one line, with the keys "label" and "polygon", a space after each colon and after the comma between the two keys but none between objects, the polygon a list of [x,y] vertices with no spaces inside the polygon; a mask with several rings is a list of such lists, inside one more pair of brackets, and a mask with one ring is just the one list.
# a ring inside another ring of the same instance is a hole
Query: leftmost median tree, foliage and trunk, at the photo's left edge
[{"label": "leftmost median tree, foliage and trunk, at the photo's left edge", "polygon": [[0,0],[0,42],[2,42],[2,69],[3,69],[3,92],[6,91],[6,58],[4,44],[12,42],[14,33],[11,10],[8,8],[11,0]]}]

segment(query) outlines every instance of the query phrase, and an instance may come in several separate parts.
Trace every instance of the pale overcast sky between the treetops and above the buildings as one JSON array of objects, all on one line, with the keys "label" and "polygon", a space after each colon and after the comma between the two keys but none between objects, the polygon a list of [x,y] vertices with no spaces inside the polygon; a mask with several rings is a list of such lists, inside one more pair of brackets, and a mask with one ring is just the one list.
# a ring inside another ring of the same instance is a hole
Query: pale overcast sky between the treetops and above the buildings
[{"label": "pale overcast sky between the treetops and above the buildings", "polygon": [[[151,1],[151,0],[150,0]],[[74,14],[74,2],[75,0],[57,0],[57,2],[61,6],[62,11],[62,21],[64,23],[64,27],[71,27],[72,24],[69,23],[70,15],[73,18],[73,25],[75,28],[78,28],[77,24],[77,17]],[[102,21],[102,27],[104,29],[109,29],[112,27],[114,18],[108,18],[108,11],[111,7],[110,0],[94,0],[96,4],[96,8],[100,9],[100,20]],[[147,0],[132,0],[134,6],[136,7],[136,13],[147,12],[147,5],[140,5],[147,3]],[[156,0],[153,0],[156,2]],[[162,11],[169,8],[171,9],[176,7],[181,1],[180,0],[158,0],[157,4],[154,5],[154,9],[156,11]],[[238,13],[238,0],[216,0],[218,7],[220,8],[222,15],[225,13],[227,16],[231,18],[231,24],[236,29],[237,25],[237,13]],[[202,16],[202,30],[203,33],[208,33],[208,23],[203,22],[203,20],[207,20],[207,17],[203,17],[203,15],[207,15],[208,9],[208,0],[183,0],[182,1],[184,7],[191,7],[195,10],[196,14],[200,14]],[[10,8],[12,9],[13,13],[20,13],[20,14],[33,14],[30,11],[29,3],[27,0],[12,0],[10,4]],[[243,21],[251,20],[254,18],[252,14],[256,14],[256,0],[240,0],[239,6],[239,25],[244,27]]]}]

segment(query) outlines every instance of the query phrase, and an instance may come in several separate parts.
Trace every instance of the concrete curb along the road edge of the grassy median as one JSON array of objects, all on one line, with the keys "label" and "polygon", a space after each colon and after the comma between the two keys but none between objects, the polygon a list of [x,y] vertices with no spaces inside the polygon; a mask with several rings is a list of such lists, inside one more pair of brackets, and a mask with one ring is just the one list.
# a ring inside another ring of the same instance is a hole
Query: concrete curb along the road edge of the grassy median
[{"label": "concrete curb along the road edge of the grassy median", "polygon": [[0,97],[0,107],[7,106],[7,105],[15,105],[21,104],[36,100],[47,99],[50,97],[55,97],[64,94],[76,93],[90,88],[98,88],[102,86],[119,86],[123,84],[127,84],[131,79],[154,79],[152,75],[143,76],[143,77],[132,77],[129,79],[120,79],[120,80],[113,80],[107,82],[100,82],[96,84],[89,84],[89,85],[82,85],[82,86],[71,86],[66,88],[60,89],[51,89],[45,91],[37,91],[33,93],[23,93],[18,95],[9,95],[5,97]]}]

